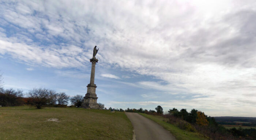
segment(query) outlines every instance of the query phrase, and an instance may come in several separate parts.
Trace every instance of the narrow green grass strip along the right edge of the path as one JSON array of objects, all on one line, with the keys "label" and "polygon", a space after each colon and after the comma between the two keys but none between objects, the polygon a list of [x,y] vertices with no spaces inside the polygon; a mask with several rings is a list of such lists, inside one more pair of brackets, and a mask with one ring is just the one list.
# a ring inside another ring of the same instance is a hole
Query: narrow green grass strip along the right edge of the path
[{"label": "narrow green grass strip along the right edge of the path", "polygon": [[164,118],[161,116],[153,116],[153,115],[148,115],[144,113],[139,113],[139,114],[149,118],[150,120],[157,122],[159,125],[162,125],[163,128],[169,130],[176,137],[177,140],[207,140],[205,137],[203,137],[199,133],[188,132],[178,128],[177,126],[174,126],[170,123],[163,121]]}]

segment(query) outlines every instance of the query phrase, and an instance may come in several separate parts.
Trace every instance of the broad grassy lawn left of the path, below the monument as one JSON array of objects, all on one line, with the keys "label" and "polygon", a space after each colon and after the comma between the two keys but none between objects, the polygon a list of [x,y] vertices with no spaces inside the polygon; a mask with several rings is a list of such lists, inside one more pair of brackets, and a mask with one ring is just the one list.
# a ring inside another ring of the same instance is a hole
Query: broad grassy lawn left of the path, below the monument
[{"label": "broad grassy lawn left of the path, below the monument", "polygon": [[[49,118],[59,122],[47,121]],[[0,140],[129,140],[132,130],[124,112],[0,107]]]}]

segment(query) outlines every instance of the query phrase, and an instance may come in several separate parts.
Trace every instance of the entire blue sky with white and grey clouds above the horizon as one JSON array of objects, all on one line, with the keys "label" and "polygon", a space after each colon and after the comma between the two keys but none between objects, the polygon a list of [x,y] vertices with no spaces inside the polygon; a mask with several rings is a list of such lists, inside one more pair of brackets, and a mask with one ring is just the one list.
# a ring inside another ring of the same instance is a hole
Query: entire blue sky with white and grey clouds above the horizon
[{"label": "entire blue sky with white and grey clouds above the horizon", "polygon": [[256,117],[255,0],[0,1],[4,88]]}]

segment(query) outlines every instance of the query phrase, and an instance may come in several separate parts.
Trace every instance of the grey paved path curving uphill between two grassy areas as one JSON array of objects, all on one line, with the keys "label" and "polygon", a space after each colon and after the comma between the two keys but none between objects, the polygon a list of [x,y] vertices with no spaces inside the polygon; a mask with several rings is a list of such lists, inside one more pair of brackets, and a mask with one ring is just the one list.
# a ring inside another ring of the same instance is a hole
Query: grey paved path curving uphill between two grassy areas
[{"label": "grey paved path curving uphill between two grassy areas", "polygon": [[161,125],[141,116],[138,113],[125,113],[131,120],[136,140],[176,140],[175,137]]}]

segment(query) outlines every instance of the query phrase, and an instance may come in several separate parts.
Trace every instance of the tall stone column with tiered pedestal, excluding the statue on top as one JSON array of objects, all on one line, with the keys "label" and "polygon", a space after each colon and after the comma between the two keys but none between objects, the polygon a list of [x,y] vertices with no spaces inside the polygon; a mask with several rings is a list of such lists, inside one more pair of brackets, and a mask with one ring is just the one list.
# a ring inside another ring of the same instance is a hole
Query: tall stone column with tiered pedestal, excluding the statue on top
[{"label": "tall stone column with tiered pedestal, excluding the statue on top", "polygon": [[83,108],[92,108],[98,109],[99,105],[97,103],[97,95],[96,95],[96,84],[94,84],[94,76],[95,76],[95,65],[98,62],[98,59],[95,57],[90,59],[91,62],[91,79],[90,84],[87,85],[87,93],[84,97],[84,102],[82,103]]}]

